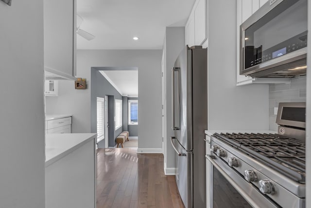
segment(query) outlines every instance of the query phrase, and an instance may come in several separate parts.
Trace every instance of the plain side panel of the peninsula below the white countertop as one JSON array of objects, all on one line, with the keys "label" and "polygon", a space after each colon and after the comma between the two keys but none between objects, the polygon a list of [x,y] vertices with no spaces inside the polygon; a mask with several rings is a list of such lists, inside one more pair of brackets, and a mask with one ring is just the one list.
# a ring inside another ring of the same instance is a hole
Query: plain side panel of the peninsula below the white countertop
[{"label": "plain side panel of the peninsula below the white countertop", "polygon": [[96,208],[92,139],[45,167],[46,208]]}]

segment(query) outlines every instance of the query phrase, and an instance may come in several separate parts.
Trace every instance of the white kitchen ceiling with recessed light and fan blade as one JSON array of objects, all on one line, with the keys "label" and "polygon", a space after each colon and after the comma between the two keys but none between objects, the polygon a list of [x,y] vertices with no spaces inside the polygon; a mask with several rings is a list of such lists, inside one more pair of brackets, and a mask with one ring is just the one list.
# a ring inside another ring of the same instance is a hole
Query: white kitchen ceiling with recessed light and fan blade
[{"label": "white kitchen ceiling with recessed light and fan blade", "polygon": [[[195,0],[77,0],[77,49],[162,49],[165,27],[185,26]],[[138,40],[133,40],[137,36]]]}]

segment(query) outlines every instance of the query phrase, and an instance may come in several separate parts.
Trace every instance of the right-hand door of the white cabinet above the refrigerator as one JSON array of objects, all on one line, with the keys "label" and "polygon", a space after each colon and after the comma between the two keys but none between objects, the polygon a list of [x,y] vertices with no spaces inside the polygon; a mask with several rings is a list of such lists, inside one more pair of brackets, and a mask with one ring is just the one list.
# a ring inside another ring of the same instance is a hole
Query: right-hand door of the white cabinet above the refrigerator
[{"label": "right-hand door of the white cabinet above the refrigerator", "polygon": [[194,41],[201,45],[207,38],[207,6],[206,0],[199,0],[194,9]]}]

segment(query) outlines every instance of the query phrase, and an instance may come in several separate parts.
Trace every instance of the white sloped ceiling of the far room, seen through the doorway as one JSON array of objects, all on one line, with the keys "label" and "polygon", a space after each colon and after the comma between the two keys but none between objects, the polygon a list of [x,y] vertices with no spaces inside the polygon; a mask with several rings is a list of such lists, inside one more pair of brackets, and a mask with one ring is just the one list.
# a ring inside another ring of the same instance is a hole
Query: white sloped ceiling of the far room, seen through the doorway
[{"label": "white sloped ceiling of the far room, seen through the doorway", "polygon": [[99,71],[122,96],[138,97],[137,70]]}]

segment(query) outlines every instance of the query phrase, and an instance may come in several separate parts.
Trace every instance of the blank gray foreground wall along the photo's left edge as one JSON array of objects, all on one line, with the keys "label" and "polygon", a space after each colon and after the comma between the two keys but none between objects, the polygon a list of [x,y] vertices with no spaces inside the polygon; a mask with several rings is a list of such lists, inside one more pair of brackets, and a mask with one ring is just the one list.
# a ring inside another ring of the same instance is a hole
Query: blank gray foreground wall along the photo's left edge
[{"label": "blank gray foreground wall along the photo's left edge", "polygon": [[43,1],[0,1],[0,207],[45,207]]}]

